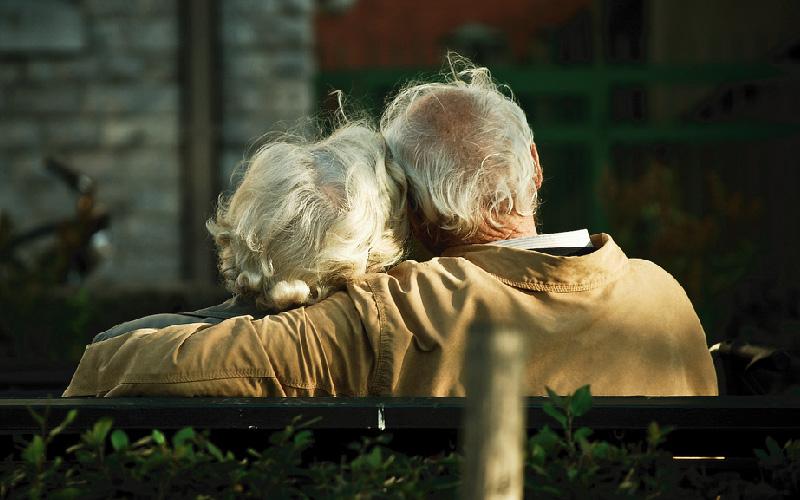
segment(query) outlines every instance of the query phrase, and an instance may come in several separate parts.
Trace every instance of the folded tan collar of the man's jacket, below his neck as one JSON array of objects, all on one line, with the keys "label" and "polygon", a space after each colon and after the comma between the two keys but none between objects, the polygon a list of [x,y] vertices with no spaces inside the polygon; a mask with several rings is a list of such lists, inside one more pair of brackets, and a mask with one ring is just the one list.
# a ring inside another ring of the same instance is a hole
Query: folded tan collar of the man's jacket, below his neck
[{"label": "folded tan collar of the man's jacket, below his neck", "polygon": [[535,250],[494,245],[463,245],[445,250],[443,257],[463,257],[507,285],[546,292],[591,290],[615,280],[628,257],[608,234],[593,234],[592,253],[562,257]]}]

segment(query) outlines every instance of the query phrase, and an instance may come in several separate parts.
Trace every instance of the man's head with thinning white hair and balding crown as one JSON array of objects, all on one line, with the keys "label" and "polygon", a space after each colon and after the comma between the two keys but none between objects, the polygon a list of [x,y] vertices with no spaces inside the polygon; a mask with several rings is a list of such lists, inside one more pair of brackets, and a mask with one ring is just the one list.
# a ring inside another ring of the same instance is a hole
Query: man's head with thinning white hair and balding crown
[{"label": "man's head with thinning white hair and balding crown", "polygon": [[521,223],[535,232],[542,177],[525,113],[488,69],[451,69],[444,83],[402,90],[381,119],[417,232],[434,248],[508,238]]}]

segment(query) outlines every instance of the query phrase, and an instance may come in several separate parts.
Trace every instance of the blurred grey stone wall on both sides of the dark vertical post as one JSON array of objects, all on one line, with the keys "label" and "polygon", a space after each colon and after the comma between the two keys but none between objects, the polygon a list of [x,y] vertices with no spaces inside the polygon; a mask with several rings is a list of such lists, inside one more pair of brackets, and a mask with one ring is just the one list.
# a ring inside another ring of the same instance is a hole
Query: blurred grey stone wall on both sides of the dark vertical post
[{"label": "blurred grey stone wall on both sides of the dark vertical post", "polygon": [[[0,5],[0,210],[19,229],[74,213],[74,194],[44,170],[46,155],[95,178],[112,216],[112,253],[96,284],[182,279],[178,2]],[[217,6],[219,164],[227,179],[254,138],[311,108],[312,2]]]}]

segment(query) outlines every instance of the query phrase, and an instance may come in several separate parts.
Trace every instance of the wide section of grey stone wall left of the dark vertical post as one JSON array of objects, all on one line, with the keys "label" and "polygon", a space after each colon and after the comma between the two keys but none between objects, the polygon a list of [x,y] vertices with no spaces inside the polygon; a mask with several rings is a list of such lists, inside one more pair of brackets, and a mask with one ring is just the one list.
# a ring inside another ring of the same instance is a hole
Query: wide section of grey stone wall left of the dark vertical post
[{"label": "wide section of grey stone wall left of the dark vertical post", "polygon": [[39,3],[47,4],[77,16],[83,44],[39,51],[32,40],[0,53],[0,207],[20,229],[72,215],[75,196],[44,170],[43,158],[57,156],[98,181],[112,214],[113,252],[95,278],[175,280],[176,1]]}]

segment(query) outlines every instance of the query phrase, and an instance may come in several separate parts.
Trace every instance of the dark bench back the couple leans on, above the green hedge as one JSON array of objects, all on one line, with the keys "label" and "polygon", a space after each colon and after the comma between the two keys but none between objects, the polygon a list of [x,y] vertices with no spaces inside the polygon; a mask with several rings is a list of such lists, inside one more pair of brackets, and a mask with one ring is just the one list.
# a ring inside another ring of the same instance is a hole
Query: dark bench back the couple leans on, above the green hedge
[{"label": "dark bench back the couple leans on, above the green hedge", "polygon": [[[542,410],[545,398],[528,398],[529,430],[557,424]],[[283,429],[298,415],[311,425],[319,446],[335,447],[363,435],[391,433],[392,447],[435,453],[459,442],[461,398],[29,398],[0,399],[0,443],[8,454],[11,436],[37,431],[30,410],[47,413],[51,425],[67,411],[78,417],[67,433],[78,433],[101,417],[132,434],[191,426],[207,429],[230,447],[259,446],[261,437]],[[672,426],[664,447],[680,456],[752,458],[766,436],[800,439],[800,396],[595,397],[592,410],[576,420],[609,440],[641,440],[650,422]]]}]

